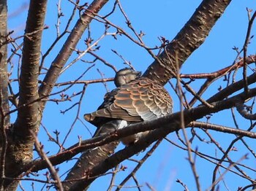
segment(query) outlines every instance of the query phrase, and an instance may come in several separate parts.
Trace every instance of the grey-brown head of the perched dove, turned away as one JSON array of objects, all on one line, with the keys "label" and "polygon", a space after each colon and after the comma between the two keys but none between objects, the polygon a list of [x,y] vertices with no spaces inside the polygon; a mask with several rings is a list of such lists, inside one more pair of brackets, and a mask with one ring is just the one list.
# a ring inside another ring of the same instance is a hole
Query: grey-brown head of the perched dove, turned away
[{"label": "grey-brown head of the perched dove, turned away", "polygon": [[125,68],[116,72],[114,82],[116,87],[120,87],[121,85],[126,85],[135,79],[139,79],[140,77],[140,71],[134,71],[133,69]]}]

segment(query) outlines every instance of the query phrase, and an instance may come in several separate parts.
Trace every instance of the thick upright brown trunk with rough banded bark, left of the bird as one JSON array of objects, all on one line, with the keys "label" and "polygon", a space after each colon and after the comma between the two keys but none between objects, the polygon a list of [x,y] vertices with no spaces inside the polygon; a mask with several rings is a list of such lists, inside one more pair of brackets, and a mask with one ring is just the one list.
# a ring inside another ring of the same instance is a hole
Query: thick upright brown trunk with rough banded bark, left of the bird
[{"label": "thick upright brown trunk with rough banded bark, left of the bird", "polygon": [[32,0],[29,5],[20,70],[18,117],[13,135],[10,135],[9,139],[7,176],[12,176],[22,165],[32,159],[34,138],[31,132],[37,133],[41,120],[39,104],[35,100],[39,98],[39,60],[46,5],[47,0]]}]

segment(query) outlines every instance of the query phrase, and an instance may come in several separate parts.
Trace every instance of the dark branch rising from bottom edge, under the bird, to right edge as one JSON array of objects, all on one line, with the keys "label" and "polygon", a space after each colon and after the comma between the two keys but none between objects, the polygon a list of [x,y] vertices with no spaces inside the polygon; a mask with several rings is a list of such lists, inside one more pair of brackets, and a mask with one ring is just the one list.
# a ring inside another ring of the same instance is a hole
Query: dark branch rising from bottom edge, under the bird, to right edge
[{"label": "dark branch rising from bottom edge, under the bird, to right edge", "polygon": [[[240,93],[238,95],[233,96],[232,98],[227,98],[224,101],[211,103],[212,105],[214,105],[214,108],[208,108],[207,106],[197,106],[194,109],[184,110],[184,124],[188,125],[189,122],[198,120],[206,116],[206,114],[219,112],[223,109],[230,109],[231,107],[236,105],[237,101],[244,101],[247,98],[250,98],[255,95],[256,88],[249,90],[248,95],[247,93]],[[73,187],[78,190],[84,190],[100,174],[105,173],[109,169],[114,168],[118,163],[121,163],[127,158],[132,157],[132,155],[135,155],[136,153],[141,152],[143,149],[146,149],[154,141],[157,141],[158,139],[167,136],[168,133],[180,130],[180,120],[181,113],[177,112],[175,114],[167,115],[165,117],[161,117],[157,120],[153,120],[150,122],[140,122],[138,124],[131,125],[130,128],[134,130],[134,133],[137,133],[135,132],[135,126],[139,128],[139,125],[143,125],[144,130],[148,130],[149,128],[153,130],[156,127],[160,128],[151,131],[151,133],[149,133],[148,136],[146,136],[144,139],[141,139],[135,144],[116,152],[114,155],[108,157],[107,160],[102,161],[102,163],[92,168],[91,171],[88,174],[86,174],[87,176],[85,177],[85,179],[75,183]],[[211,125],[209,125],[208,127],[211,128]],[[232,133],[232,130],[227,130],[227,133]]]}]

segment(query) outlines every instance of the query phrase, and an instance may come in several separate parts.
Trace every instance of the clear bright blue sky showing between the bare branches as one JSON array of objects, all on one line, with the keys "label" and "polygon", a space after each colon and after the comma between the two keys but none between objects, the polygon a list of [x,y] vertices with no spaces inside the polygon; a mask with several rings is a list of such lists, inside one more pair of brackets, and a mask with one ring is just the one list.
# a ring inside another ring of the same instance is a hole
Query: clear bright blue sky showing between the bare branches
[{"label": "clear bright blue sky showing between the bare branches", "polygon": [[[113,7],[113,2],[110,1],[101,12],[100,15],[105,15],[105,13],[110,12]],[[13,1],[9,1],[9,12],[15,12],[21,7],[23,4],[28,4],[28,1],[18,1],[13,3]],[[44,31],[43,40],[42,40],[42,52],[44,53],[48,50],[48,47],[56,38],[56,15],[57,15],[57,7],[56,4],[58,1],[50,0],[48,2],[48,12],[45,20],[45,25],[49,26],[47,30]],[[180,29],[187,23],[189,17],[191,17],[192,13],[200,4],[200,1],[171,1],[171,0],[160,0],[160,1],[135,1],[135,0],[122,0],[121,4],[127,13],[129,20],[132,22],[132,26],[136,31],[143,31],[146,36],[143,37],[144,42],[150,46],[154,47],[155,45],[159,45],[159,36],[165,36],[166,39],[172,40],[174,36],[180,31]],[[233,63],[236,58],[236,52],[232,49],[234,46],[241,49],[244,44],[244,37],[246,36],[246,27],[248,23],[246,7],[251,9],[256,8],[254,1],[238,1],[234,0],[231,2],[230,6],[227,7],[225,14],[219,19],[217,24],[212,29],[209,34],[206,42],[200,46],[184,63],[182,66],[181,73],[182,74],[194,74],[194,73],[205,73],[217,71],[218,69],[222,69],[225,66],[229,66]],[[64,12],[65,17],[61,18],[61,30],[63,30],[65,23],[67,23],[67,19],[72,11],[72,6],[68,1],[61,2],[61,9]],[[10,30],[15,30],[15,34],[13,36],[18,36],[23,34],[23,28],[26,22],[26,9],[23,9],[18,15],[10,18],[9,27]],[[78,15],[76,15],[77,19]],[[75,19],[75,20],[76,20]],[[132,34],[132,31],[126,27],[124,17],[120,15],[120,12],[116,12],[115,14],[109,17],[109,20],[115,23],[122,28],[125,28],[129,34]],[[75,22],[72,22],[72,26]],[[99,36],[104,32],[104,28],[101,24],[97,23],[97,21],[93,21],[91,23],[91,35],[94,40],[98,39]],[[110,28],[110,32],[113,32],[113,28]],[[255,34],[255,28],[252,29],[252,34]],[[86,34],[83,36],[85,38]],[[45,60],[45,66],[49,67],[51,61],[58,54],[61,44],[64,42],[59,42],[58,46],[53,49],[50,53],[49,57]],[[106,61],[116,66],[117,69],[124,68],[123,61],[121,61],[118,56],[113,54],[111,49],[117,50],[119,54],[121,54],[127,61],[130,61],[135,69],[139,71],[145,71],[149,64],[152,63],[153,59],[146,50],[139,47],[138,45],[132,43],[124,36],[118,36],[118,40],[114,40],[111,36],[106,36],[101,42],[99,42],[100,50],[99,55],[102,58],[105,58]],[[78,44],[79,50],[86,49],[85,44],[83,44],[83,40]],[[252,39],[252,43],[249,46],[248,54],[255,54],[255,40]],[[67,63],[70,63],[72,59],[76,57],[75,54],[69,59]],[[86,55],[84,60],[91,60],[91,56]],[[17,60],[16,60],[17,61]],[[72,68],[68,69],[61,75],[59,82],[67,82],[70,79],[76,79],[82,74],[90,66],[89,63],[78,62],[75,63]],[[108,67],[103,66],[102,63],[97,62],[96,66],[91,69],[82,79],[99,79],[101,78],[97,69],[102,71],[105,74],[105,77],[113,77],[114,71],[112,69],[108,69]],[[14,76],[15,77],[15,76]],[[239,79],[239,74],[238,78]],[[173,81],[174,82],[174,81]],[[198,81],[192,84],[192,87],[195,90],[198,90],[201,83],[203,81]],[[217,92],[217,88],[219,85],[225,87],[225,82],[217,81],[212,85],[212,87],[203,95],[203,98],[208,98]],[[81,90],[81,85],[75,86],[72,89],[68,90],[67,94],[72,94],[73,92],[78,92]],[[108,83],[108,90],[114,88],[113,82]],[[174,111],[179,111],[178,98],[173,93],[169,85],[166,85],[167,90],[170,91],[170,95],[173,95],[174,100]],[[56,88],[54,91],[61,90],[61,87]],[[83,114],[88,112],[93,112],[97,109],[97,106],[101,104],[104,94],[106,93],[105,87],[102,84],[97,85],[89,85],[86,88],[86,95],[83,98],[82,108],[80,109],[79,117],[83,120]],[[56,98],[59,95],[56,95]],[[191,96],[188,95],[188,98]],[[42,124],[48,128],[49,132],[53,135],[54,130],[59,130],[61,132],[60,139],[63,140],[64,136],[68,132],[72,122],[74,121],[74,117],[77,114],[77,108],[72,109],[67,112],[67,114],[61,114],[60,110],[67,109],[72,104],[78,101],[78,98],[75,98],[70,103],[61,103],[59,105],[50,102],[45,109],[44,117],[42,120]],[[214,114],[211,117],[211,122],[216,122],[219,124],[227,125],[230,127],[234,127],[233,122],[230,120],[230,112],[221,112],[219,114]],[[227,120],[228,119],[228,120]],[[238,117],[239,119],[239,117]],[[12,117],[12,120],[15,120],[15,116]],[[202,119],[202,121],[206,121],[206,119]],[[244,127],[244,129],[248,128],[248,124],[244,124],[242,120],[238,120],[239,125]],[[88,123],[86,123],[87,128],[94,132],[94,127]],[[189,132],[189,129],[188,129]],[[227,136],[225,133],[216,133],[211,132],[217,141],[220,141],[222,147],[226,149],[230,144],[230,141],[234,139],[235,136]],[[205,134],[202,134],[206,139]],[[78,141],[78,136],[82,136],[83,139],[88,139],[90,134],[86,127],[81,122],[76,122],[72,133],[68,137],[65,147],[69,147],[72,144],[75,144]],[[176,138],[176,134],[170,134],[168,136],[169,139],[175,141],[180,144]],[[223,141],[225,139],[225,141]],[[45,131],[41,128],[39,132],[39,140],[45,145],[45,151],[50,151],[50,154],[53,155],[58,151],[58,147],[55,144],[48,141],[48,137],[46,136]],[[246,139],[248,141],[252,141]],[[249,142],[251,144],[251,142]],[[253,144],[250,145],[253,147]],[[123,145],[120,145],[118,149],[123,148]],[[198,147],[200,152],[207,152],[209,155],[217,155],[221,157],[221,153],[219,150],[216,151],[215,147],[211,144],[203,144],[200,141],[194,141],[192,144],[192,148],[195,149]],[[230,155],[233,157],[241,157],[241,155],[248,152],[248,150],[244,149],[240,144],[236,145],[236,147],[240,148],[239,152],[232,152]],[[216,153],[215,153],[216,152]],[[139,156],[135,156],[135,158],[140,158],[145,153],[141,153]],[[238,154],[238,155],[237,155]],[[250,156],[252,157],[252,156]],[[63,165],[61,167],[61,173],[67,171],[70,166],[74,163],[67,163],[67,165]],[[248,163],[251,163],[248,161]],[[121,182],[122,178],[127,176],[129,171],[132,171],[132,166],[135,166],[136,163],[125,161],[122,165],[126,165],[128,168],[125,172],[121,172],[118,174],[116,178],[116,184]],[[227,165],[227,164],[226,164]],[[252,168],[255,168],[255,163],[251,164]],[[205,160],[201,160],[197,157],[196,167],[198,174],[200,176],[200,184],[203,190],[206,190],[211,185],[211,174],[213,170],[213,165],[211,163],[206,163]],[[65,169],[66,168],[66,169]],[[222,170],[223,172],[223,170]],[[42,172],[39,172],[42,174]],[[148,182],[154,187],[156,190],[183,190],[181,185],[176,183],[176,179],[181,179],[184,184],[187,184],[189,190],[195,190],[195,181],[192,176],[192,170],[187,161],[187,152],[177,147],[174,147],[171,144],[168,144],[167,141],[163,141],[161,146],[157,149],[156,152],[146,161],[138,174],[136,176],[141,184],[143,184],[142,190],[148,190],[145,186],[145,183]],[[236,179],[239,182],[236,182]],[[90,190],[100,190],[102,185],[108,185],[108,181],[110,180],[110,176],[104,176],[101,179],[98,179],[94,184],[91,185]],[[238,186],[244,186],[249,184],[244,179],[238,178],[238,176],[233,174],[227,174],[225,176],[225,180],[227,181],[227,187],[230,190],[236,190]],[[243,181],[241,181],[243,180]],[[22,182],[23,186],[26,187],[26,190],[29,190],[30,182]],[[135,185],[134,182],[128,182],[129,186]],[[35,187],[40,188],[42,184],[36,184]],[[106,186],[104,186],[106,187]],[[128,190],[128,189],[124,189]],[[135,189],[129,189],[135,190]],[[223,184],[221,184],[220,190],[225,190]]]}]

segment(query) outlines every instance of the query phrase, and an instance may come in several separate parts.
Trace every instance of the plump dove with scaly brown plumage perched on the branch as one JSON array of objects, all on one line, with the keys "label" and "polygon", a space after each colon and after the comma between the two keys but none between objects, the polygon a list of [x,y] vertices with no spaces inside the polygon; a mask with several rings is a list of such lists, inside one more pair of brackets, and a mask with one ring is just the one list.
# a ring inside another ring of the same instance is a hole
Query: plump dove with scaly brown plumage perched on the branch
[{"label": "plump dove with scaly brown plumage perched on the branch", "polygon": [[[173,100],[159,82],[142,77],[129,68],[117,71],[116,89],[105,94],[97,111],[85,114],[86,121],[97,126],[96,134],[126,128],[132,123],[155,120],[173,111]],[[125,146],[134,144],[149,131],[121,139]]]}]

